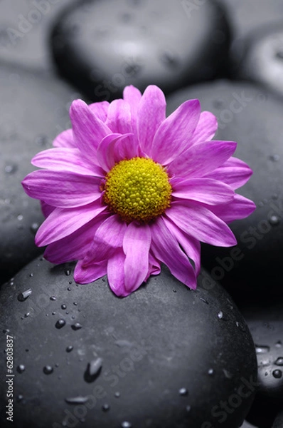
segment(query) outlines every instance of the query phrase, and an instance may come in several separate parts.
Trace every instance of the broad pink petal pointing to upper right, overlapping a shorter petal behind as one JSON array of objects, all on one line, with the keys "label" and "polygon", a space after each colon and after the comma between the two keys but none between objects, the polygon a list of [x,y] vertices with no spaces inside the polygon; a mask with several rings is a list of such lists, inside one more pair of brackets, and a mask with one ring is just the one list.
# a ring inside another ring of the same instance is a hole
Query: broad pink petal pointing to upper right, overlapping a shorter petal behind
[{"label": "broad pink petal pointing to upper right, overlapping a shorter petal behind", "polygon": [[191,146],[191,137],[198,124],[201,105],[198,100],[181,104],[166,118],[156,131],[150,156],[167,165]]}]

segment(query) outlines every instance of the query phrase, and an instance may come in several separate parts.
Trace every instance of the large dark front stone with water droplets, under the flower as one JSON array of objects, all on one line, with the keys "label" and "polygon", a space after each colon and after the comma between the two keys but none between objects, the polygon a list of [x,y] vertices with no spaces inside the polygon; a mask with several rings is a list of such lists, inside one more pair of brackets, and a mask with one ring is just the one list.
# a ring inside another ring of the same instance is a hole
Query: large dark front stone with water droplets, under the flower
[{"label": "large dark front stone with water droplets, under the flower", "polygon": [[[76,285],[72,264],[27,265],[0,292],[1,350],[14,340],[13,426],[239,427],[255,348],[227,292],[208,282],[202,272],[191,291],[164,267],[119,299],[105,277]],[[10,427],[4,404],[1,390]]]}]

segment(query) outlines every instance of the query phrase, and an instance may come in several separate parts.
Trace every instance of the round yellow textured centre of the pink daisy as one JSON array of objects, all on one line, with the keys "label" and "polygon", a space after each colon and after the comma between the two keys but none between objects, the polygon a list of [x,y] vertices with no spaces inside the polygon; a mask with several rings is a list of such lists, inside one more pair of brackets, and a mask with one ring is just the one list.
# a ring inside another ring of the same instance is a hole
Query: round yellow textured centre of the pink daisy
[{"label": "round yellow textured centre of the pink daisy", "polygon": [[169,176],[159,163],[132,158],[107,173],[104,200],[127,223],[148,223],[169,208],[171,191]]}]

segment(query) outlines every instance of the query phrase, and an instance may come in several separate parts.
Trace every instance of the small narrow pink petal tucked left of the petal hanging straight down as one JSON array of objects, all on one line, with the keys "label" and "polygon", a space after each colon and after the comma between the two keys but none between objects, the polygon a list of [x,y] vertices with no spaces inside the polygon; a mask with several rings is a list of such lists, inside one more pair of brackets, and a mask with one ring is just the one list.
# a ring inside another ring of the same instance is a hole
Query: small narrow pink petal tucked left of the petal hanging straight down
[{"label": "small narrow pink petal tucked left of the petal hanging straight down", "polygon": [[124,260],[126,256],[122,248],[116,250],[107,263],[107,280],[112,292],[119,297],[130,294],[124,286]]}]

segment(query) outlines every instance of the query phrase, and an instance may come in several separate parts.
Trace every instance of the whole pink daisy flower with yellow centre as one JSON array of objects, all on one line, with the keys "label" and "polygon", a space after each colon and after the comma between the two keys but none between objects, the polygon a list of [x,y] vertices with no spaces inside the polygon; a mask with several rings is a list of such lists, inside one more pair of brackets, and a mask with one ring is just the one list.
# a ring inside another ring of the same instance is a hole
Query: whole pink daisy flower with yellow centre
[{"label": "whole pink daisy flower with yellow centre", "polygon": [[255,210],[235,193],[252,174],[231,157],[236,143],[211,141],[215,116],[198,100],[166,118],[164,93],[134,86],[124,98],[70,107],[72,129],[38,153],[23,188],[41,200],[46,220],[36,245],[51,263],[78,260],[75,281],[107,274],[112,291],[127,296],[161,263],[193,289],[201,242],[236,244],[227,223]]}]

